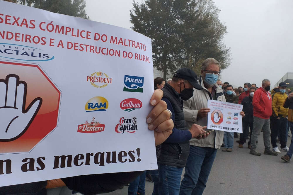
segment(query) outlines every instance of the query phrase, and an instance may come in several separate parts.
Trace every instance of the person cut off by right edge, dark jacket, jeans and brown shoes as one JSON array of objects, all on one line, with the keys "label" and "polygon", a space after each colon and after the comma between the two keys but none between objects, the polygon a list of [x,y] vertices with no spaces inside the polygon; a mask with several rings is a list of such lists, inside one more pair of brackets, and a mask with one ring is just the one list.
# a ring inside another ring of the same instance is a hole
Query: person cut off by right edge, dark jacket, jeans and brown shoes
[{"label": "person cut off by right edge, dark jacket, jeans and brown shoes", "polygon": [[[288,98],[284,102],[284,108],[289,108],[288,111],[288,121],[290,125],[290,130],[291,130],[291,135],[293,135],[293,93],[290,93],[288,95]],[[289,162],[290,159],[292,158],[293,154],[293,136],[291,138],[291,144],[289,146],[289,151],[285,156],[282,156],[281,159],[284,160],[285,162]]]}]

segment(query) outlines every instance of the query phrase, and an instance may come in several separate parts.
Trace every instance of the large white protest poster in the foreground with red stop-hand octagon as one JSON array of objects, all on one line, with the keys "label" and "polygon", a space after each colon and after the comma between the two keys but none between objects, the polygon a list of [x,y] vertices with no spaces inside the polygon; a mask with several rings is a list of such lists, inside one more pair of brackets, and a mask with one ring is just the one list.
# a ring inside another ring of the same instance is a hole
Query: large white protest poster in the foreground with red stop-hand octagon
[{"label": "large white protest poster in the foreground with red stop-hand octagon", "polygon": [[151,39],[0,7],[0,186],[156,169]]}]

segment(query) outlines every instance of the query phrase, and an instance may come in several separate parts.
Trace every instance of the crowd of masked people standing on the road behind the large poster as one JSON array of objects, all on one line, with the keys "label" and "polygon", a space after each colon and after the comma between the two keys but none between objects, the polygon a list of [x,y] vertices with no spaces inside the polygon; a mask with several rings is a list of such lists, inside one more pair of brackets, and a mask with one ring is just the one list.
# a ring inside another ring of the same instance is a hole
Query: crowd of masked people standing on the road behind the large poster
[{"label": "crowd of masked people standing on the road behind the large poster", "polygon": [[[277,156],[281,153],[277,146],[279,140],[281,151],[287,152],[281,159],[290,161],[293,136],[289,148],[286,143],[289,129],[291,133],[293,130],[293,93],[287,89],[286,83],[281,82],[271,91],[268,79],[263,79],[260,87],[246,82],[243,87],[233,88],[229,82],[222,83],[219,79],[220,70],[219,62],[208,58],[202,64],[199,78],[193,71],[182,68],[167,81],[161,77],[154,79],[155,89],[162,89],[164,92],[162,100],[166,101],[167,108],[172,112],[174,128],[170,137],[161,144],[159,154],[157,152],[158,170],[147,172],[151,176],[147,176],[149,180],[154,182],[153,195],[202,194],[217,149],[222,146],[222,151],[232,152],[234,138],[239,138],[236,141],[239,148],[243,148],[246,140],[249,140],[249,153],[260,156],[261,153],[256,148],[261,131],[265,146],[263,154]],[[196,80],[190,80],[190,76]],[[192,127],[207,130],[207,113],[210,111],[207,108],[208,99],[243,105],[243,133],[240,137],[237,133],[218,130],[214,130],[204,139],[193,136],[191,132],[188,134]],[[181,132],[176,132],[178,130]],[[180,182],[183,167],[185,174]],[[146,174],[143,177],[145,182]],[[128,190],[128,195],[144,194],[144,191],[141,192],[142,190]]]}]

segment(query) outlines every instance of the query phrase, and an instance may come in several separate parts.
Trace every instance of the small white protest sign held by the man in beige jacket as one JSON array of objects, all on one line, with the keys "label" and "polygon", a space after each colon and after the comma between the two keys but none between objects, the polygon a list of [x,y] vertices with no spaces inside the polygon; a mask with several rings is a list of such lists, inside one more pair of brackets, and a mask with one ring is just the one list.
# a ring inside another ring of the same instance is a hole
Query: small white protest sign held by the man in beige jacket
[{"label": "small white protest sign held by the man in beige jacket", "polygon": [[207,114],[207,128],[242,133],[242,116],[240,112],[243,105],[208,100],[207,107],[211,109]]}]

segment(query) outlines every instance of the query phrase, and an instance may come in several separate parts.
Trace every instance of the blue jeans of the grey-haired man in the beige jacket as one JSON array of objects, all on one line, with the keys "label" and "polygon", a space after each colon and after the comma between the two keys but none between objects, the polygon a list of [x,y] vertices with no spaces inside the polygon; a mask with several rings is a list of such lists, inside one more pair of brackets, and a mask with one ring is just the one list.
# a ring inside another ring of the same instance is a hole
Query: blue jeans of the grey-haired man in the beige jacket
[{"label": "blue jeans of the grey-haired man in the beige jacket", "polygon": [[217,149],[190,145],[180,195],[201,195],[205,190]]}]

